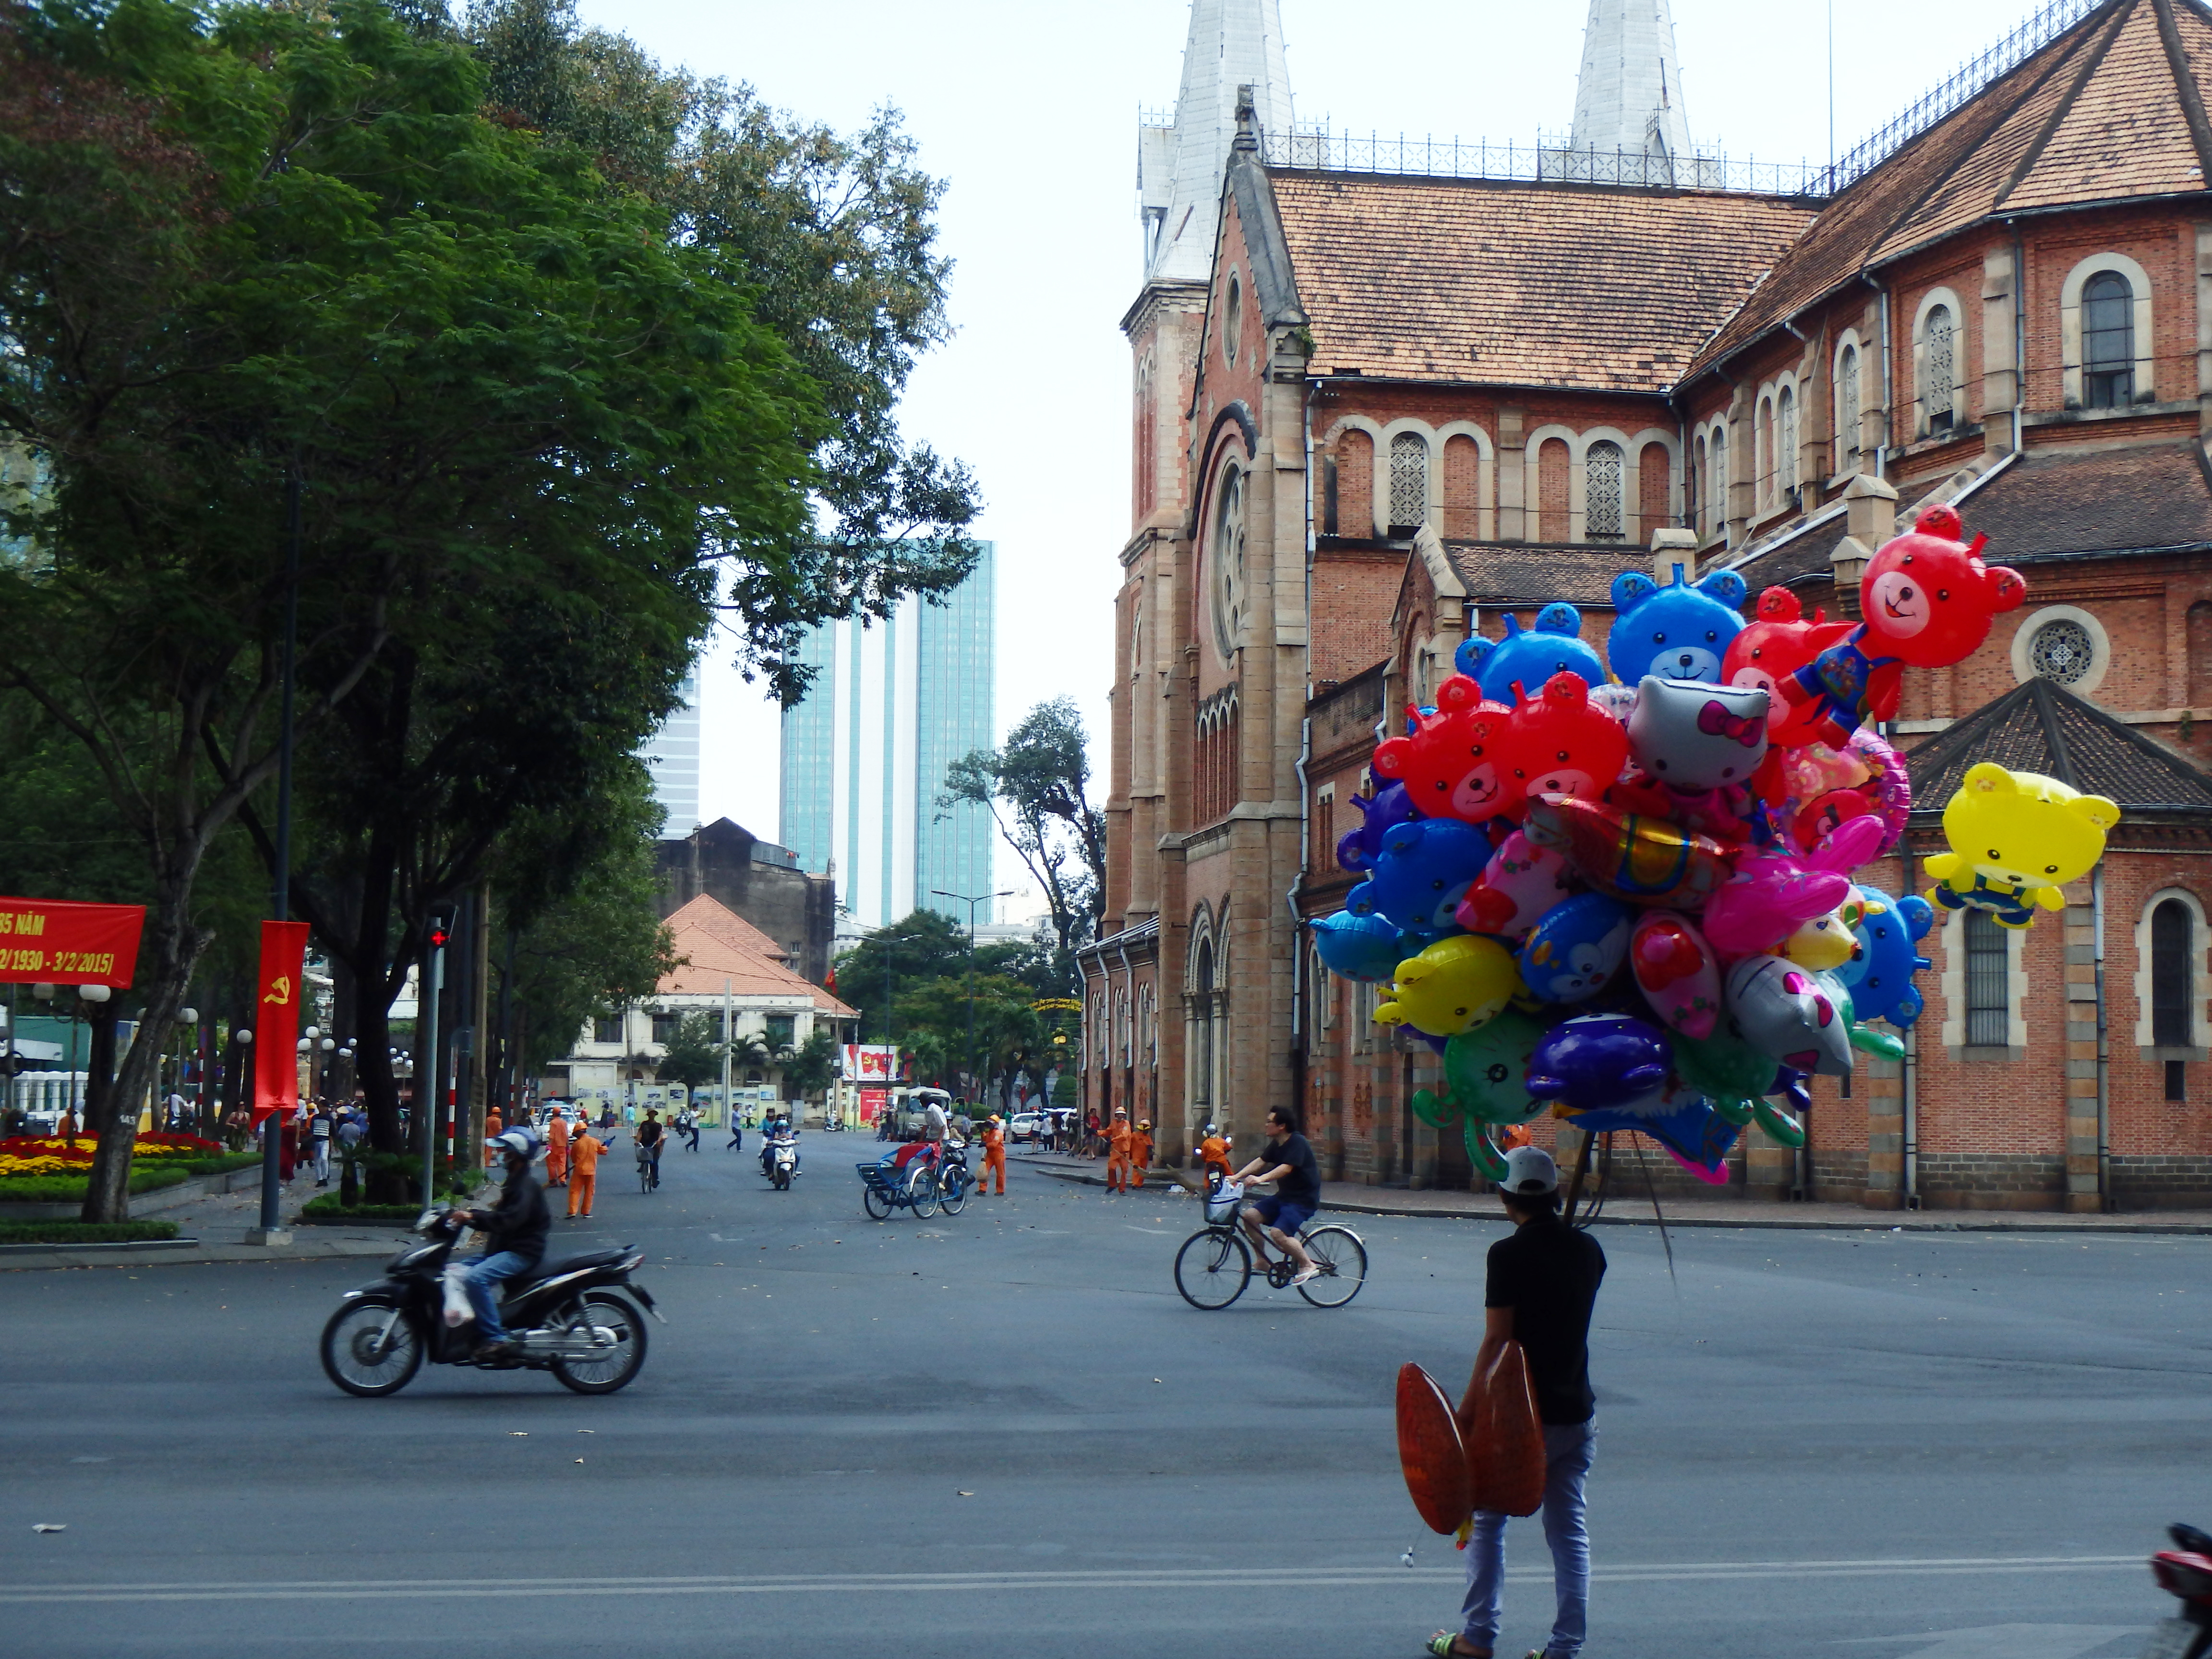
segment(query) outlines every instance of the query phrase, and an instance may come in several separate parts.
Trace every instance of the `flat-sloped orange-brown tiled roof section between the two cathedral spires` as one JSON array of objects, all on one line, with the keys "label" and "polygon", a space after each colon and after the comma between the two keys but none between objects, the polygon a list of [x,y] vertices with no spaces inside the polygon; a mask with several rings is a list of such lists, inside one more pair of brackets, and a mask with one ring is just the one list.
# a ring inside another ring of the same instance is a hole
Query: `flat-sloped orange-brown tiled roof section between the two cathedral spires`
[{"label": "flat-sloped orange-brown tiled roof section between the two cathedral spires", "polygon": [[1812,219],[1781,197],[1270,170],[1316,372],[1668,392]]}]

